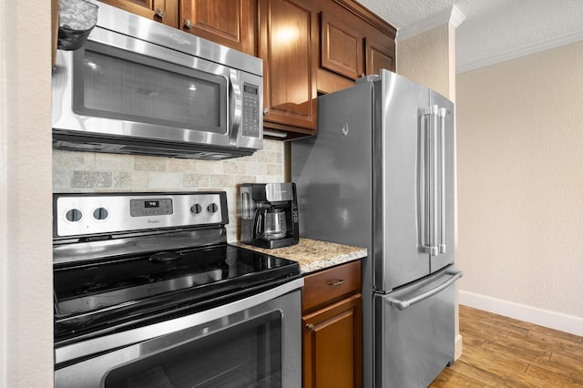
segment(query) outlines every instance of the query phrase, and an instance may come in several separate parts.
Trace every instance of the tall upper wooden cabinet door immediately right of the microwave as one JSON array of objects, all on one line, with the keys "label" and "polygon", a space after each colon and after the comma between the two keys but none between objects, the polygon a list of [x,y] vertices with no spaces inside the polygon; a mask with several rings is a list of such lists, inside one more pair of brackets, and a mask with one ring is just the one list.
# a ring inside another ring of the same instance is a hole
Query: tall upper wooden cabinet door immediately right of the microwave
[{"label": "tall upper wooden cabinet door immediately right of the microwave", "polygon": [[263,124],[309,128],[315,134],[318,21],[313,2],[261,0],[259,15]]}]

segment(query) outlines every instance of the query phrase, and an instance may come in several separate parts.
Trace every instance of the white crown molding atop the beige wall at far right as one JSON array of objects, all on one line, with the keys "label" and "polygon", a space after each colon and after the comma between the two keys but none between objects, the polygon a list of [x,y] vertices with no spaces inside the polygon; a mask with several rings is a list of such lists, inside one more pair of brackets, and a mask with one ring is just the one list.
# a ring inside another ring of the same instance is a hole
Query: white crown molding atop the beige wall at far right
[{"label": "white crown molding atop the beige wall at far right", "polygon": [[[480,59],[475,62],[471,62],[465,65],[460,65],[455,68],[455,73],[465,73],[468,71],[476,70],[478,68],[496,65],[501,62],[506,62],[512,59],[517,59],[521,56],[530,56],[532,54],[537,54],[541,51],[550,50],[552,48],[557,48],[560,46],[567,46],[571,43],[576,43],[583,40],[583,30],[578,31],[567,36],[560,36],[555,39],[547,40],[546,42],[537,43],[535,45],[529,45],[520,47],[516,50],[506,51],[505,53],[498,54],[496,56],[488,56],[484,59]],[[458,60],[459,62],[459,60]]]}]

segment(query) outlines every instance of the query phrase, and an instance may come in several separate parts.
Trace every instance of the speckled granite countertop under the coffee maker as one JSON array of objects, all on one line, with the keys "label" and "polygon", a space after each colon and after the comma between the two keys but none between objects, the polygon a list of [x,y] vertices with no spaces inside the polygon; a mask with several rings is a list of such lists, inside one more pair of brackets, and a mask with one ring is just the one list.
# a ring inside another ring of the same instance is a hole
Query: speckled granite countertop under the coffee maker
[{"label": "speckled granite countertop under the coffee maker", "polygon": [[232,244],[239,245],[248,250],[256,250],[284,259],[297,261],[300,263],[300,270],[304,275],[348,261],[360,260],[367,256],[366,248],[312,239],[300,239],[299,244],[275,248],[273,250],[254,247],[243,244],[240,241],[233,242]]}]

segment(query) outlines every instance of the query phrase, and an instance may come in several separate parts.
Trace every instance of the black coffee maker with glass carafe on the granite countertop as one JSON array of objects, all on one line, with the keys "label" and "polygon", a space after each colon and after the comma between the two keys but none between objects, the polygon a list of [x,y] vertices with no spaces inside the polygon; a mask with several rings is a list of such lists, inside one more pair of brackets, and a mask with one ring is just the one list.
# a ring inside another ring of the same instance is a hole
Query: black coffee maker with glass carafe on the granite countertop
[{"label": "black coffee maker with glass carafe on the granite countertop", "polygon": [[300,242],[295,183],[240,185],[240,241],[261,248]]}]

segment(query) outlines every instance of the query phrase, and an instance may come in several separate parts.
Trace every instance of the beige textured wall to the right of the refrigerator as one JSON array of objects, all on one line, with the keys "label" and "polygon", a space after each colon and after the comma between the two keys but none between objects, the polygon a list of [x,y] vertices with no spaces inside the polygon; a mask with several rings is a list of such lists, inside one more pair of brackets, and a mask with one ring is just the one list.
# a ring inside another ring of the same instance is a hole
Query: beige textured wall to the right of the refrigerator
[{"label": "beige textured wall to the right of the refrigerator", "polygon": [[583,42],[457,77],[460,290],[583,317]]}]

